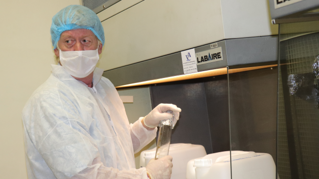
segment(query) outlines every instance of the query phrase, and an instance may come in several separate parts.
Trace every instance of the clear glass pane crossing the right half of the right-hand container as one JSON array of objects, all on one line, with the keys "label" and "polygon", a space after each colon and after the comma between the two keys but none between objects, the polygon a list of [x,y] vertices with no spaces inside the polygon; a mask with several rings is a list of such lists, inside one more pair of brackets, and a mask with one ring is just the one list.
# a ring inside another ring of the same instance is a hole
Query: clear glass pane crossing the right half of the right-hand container
[{"label": "clear glass pane crossing the right half of the right-hand container", "polygon": [[277,67],[228,74],[232,179],[276,179],[277,78]]}]

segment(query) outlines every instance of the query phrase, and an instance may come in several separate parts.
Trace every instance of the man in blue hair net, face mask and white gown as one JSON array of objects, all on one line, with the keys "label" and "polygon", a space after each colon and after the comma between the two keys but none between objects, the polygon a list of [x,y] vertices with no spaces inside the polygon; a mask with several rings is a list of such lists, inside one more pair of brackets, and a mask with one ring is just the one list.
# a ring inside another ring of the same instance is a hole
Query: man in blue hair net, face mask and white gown
[{"label": "man in blue hair net, face mask and white gown", "polygon": [[134,153],[152,141],[160,120],[180,108],[160,104],[129,124],[113,84],[96,68],[104,45],[97,15],[81,5],[52,18],[59,58],[22,111],[29,179],[169,179],[171,156],[135,169]]}]

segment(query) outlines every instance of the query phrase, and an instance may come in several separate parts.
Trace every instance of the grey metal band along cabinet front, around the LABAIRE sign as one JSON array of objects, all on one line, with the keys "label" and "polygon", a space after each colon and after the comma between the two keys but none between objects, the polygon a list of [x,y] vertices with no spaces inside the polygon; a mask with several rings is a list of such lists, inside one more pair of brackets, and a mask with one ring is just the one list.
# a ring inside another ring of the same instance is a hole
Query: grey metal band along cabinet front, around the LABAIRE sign
[{"label": "grey metal band along cabinet front, around the LABAIRE sign", "polygon": [[[198,72],[226,66],[271,62],[277,60],[277,36],[229,39],[217,42],[223,60],[198,65]],[[195,48],[195,53],[210,50],[210,44]],[[180,52],[105,71],[103,76],[114,86],[183,75]]]}]

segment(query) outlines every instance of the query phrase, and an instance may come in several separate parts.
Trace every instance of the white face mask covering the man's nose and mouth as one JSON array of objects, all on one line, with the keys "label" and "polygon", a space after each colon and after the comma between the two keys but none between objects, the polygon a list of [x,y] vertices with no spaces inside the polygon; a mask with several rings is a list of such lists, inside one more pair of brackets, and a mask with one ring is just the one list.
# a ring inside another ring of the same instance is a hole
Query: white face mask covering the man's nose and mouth
[{"label": "white face mask covering the man's nose and mouth", "polygon": [[70,75],[77,78],[84,78],[90,75],[99,59],[98,49],[84,51],[60,50],[61,65]]}]

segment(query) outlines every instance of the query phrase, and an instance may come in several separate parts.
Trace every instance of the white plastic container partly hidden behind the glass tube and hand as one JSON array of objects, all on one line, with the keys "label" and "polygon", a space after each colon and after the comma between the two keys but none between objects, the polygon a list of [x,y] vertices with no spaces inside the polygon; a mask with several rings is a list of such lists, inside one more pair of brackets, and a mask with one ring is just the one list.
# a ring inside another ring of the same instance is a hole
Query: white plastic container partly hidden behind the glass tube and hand
[{"label": "white plastic container partly hidden behind the glass tube and hand", "polygon": [[[140,166],[146,167],[155,158],[156,148],[141,152]],[[152,155],[152,157],[150,157]],[[206,156],[205,148],[193,144],[170,144],[168,155],[173,157],[172,174],[170,179],[185,179],[187,162],[191,159]],[[142,157],[144,156],[144,157]]]}]

